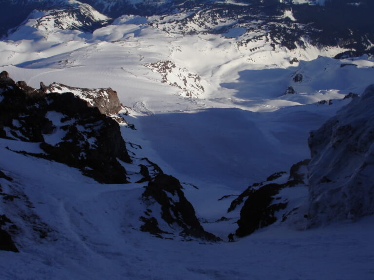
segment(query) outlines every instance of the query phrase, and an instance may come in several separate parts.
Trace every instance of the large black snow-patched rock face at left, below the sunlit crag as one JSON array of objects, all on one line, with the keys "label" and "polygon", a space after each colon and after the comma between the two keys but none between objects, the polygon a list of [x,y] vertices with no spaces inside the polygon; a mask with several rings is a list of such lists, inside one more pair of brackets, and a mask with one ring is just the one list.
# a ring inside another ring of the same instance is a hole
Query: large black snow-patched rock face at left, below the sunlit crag
[{"label": "large black snow-patched rock face at left, below the sunlit crag", "polygon": [[47,94],[14,83],[7,73],[0,77],[0,137],[40,142],[44,153],[34,156],[79,168],[99,182],[127,182],[117,158],[131,159],[118,123],[73,93]]}]

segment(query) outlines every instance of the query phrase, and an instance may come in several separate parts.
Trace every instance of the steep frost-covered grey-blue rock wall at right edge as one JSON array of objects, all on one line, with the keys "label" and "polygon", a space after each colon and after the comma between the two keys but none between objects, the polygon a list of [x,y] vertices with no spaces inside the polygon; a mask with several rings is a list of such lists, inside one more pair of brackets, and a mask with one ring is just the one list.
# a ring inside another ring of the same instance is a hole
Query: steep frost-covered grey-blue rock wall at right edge
[{"label": "steep frost-covered grey-blue rock wall at right edge", "polygon": [[311,132],[312,225],[374,213],[374,85]]}]

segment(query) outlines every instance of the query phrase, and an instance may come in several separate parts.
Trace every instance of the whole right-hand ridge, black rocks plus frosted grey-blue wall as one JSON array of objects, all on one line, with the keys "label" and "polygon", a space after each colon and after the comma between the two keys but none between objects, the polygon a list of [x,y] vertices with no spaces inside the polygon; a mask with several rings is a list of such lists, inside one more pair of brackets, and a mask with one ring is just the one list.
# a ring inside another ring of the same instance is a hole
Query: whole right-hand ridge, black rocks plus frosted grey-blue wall
[{"label": "whole right-hand ridge, black rocks plus frosted grey-blue wall", "polygon": [[310,133],[311,159],[249,186],[231,202],[228,212],[240,209],[237,236],[275,222],[291,220],[305,229],[374,213],[374,85],[347,98],[351,103]]}]

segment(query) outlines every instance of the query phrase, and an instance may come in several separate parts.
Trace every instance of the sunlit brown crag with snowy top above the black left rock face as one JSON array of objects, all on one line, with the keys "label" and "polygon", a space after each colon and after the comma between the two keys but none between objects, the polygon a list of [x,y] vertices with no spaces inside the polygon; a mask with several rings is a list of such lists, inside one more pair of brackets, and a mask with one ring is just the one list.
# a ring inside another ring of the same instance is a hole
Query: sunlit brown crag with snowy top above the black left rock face
[{"label": "sunlit brown crag with snowy top above the black left rock face", "polygon": [[112,88],[73,88],[58,83],[53,83],[48,87],[41,83],[40,88],[44,93],[72,92],[80,99],[87,101],[89,106],[97,107],[100,113],[105,115],[117,114],[122,109],[117,92]]}]

